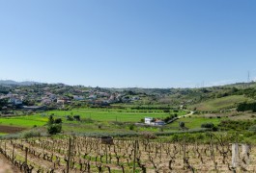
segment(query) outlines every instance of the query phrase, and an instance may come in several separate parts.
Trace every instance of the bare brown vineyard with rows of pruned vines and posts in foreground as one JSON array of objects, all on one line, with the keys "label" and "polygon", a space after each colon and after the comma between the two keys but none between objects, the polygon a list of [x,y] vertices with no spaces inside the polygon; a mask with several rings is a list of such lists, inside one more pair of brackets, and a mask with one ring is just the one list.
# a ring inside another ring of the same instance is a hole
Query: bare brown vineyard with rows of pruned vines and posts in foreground
[{"label": "bare brown vineyard with rows of pruned vines and posts in foreground", "polygon": [[1,140],[0,153],[20,172],[256,171],[255,147],[221,137],[199,144],[85,136]]}]

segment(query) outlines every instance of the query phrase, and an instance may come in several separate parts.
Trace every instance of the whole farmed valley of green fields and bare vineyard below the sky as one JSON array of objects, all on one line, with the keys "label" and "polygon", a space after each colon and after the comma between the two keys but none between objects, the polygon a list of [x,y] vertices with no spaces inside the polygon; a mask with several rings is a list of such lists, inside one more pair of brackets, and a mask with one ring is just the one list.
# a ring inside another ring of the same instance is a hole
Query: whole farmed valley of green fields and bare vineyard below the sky
[{"label": "whole farmed valley of green fields and bare vineyard below the sky", "polygon": [[[255,170],[256,116],[236,110],[253,102],[253,89],[17,88],[15,97],[32,90],[27,99],[37,98],[25,101],[32,107],[1,102],[7,105],[1,111],[0,151],[18,171],[227,172],[235,168],[231,143],[251,147],[250,161],[240,161],[236,170]],[[45,106],[37,101],[41,97],[55,100]],[[148,125],[145,117],[168,124]],[[51,134],[53,127],[60,128]],[[102,143],[106,136],[113,143]]]}]

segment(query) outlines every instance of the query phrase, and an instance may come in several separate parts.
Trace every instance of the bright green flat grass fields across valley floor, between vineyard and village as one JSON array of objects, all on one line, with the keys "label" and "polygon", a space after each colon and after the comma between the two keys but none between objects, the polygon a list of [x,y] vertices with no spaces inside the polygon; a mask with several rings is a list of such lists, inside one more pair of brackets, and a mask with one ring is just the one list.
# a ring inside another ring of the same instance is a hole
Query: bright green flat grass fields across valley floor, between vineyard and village
[{"label": "bright green flat grass fields across valley floor, between vineyard and village", "polygon": [[[172,132],[179,130],[179,122],[185,122],[188,129],[200,128],[202,123],[212,122],[218,124],[222,118],[205,118],[191,115],[181,118],[172,124],[159,127],[131,127],[135,122],[140,122],[145,116],[165,118],[169,114],[177,113],[185,115],[186,111],[160,112],[160,111],[138,111],[124,109],[79,109],[72,111],[46,111],[34,115],[15,116],[0,118],[0,125],[23,127],[31,129],[46,125],[48,116],[53,114],[54,118],[62,118],[63,131],[65,133],[128,133],[128,132]],[[80,115],[81,121],[68,121],[67,115]],[[1,133],[1,130],[0,130]]]}]

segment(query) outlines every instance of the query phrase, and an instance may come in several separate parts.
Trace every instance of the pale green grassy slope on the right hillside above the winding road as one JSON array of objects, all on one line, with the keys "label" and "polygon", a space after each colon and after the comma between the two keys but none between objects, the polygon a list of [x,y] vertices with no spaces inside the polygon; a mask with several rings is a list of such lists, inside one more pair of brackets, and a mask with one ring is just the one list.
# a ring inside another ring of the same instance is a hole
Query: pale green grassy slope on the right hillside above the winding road
[{"label": "pale green grassy slope on the right hillside above the winding road", "polygon": [[205,101],[200,104],[189,106],[189,108],[196,108],[198,111],[220,111],[234,108],[236,104],[247,100],[248,98],[244,97],[243,95],[232,95]]}]

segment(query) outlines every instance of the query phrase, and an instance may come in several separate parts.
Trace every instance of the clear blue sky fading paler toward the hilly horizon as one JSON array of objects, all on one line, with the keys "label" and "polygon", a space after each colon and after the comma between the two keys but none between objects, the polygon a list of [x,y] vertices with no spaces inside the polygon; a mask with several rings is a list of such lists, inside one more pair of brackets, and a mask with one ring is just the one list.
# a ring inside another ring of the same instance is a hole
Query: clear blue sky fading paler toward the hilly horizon
[{"label": "clear blue sky fading paler toward the hilly horizon", "polygon": [[247,71],[254,0],[0,0],[0,80],[195,87]]}]

